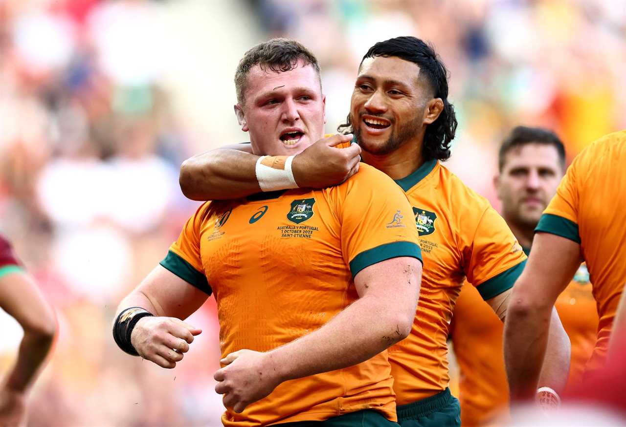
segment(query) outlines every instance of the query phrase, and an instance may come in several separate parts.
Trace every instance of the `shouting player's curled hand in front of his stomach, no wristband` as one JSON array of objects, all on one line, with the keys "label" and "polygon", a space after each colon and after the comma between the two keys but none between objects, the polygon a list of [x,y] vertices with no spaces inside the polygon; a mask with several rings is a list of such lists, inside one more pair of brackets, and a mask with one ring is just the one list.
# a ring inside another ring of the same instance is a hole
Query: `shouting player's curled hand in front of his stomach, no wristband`
[{"label": "shouting player's curled hand in front of his stomach, no wristband", "polygon": [[269,353],[239,350],[220,360],[225,364],[213,375],[215,391],[224,394],[223,403],[233,411],[242,412],[250,403],[268,396],[282,383],[277,369],[270,366]]}]

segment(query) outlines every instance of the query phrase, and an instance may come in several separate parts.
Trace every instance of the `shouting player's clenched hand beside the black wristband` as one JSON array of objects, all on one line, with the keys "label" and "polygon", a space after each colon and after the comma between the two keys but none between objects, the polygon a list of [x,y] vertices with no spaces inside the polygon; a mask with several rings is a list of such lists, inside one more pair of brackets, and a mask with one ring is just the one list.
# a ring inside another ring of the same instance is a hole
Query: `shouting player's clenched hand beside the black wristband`
[{"label": "shouting player's clenched hand beside the black wristband", "polygon": [[193,336],[201,332],[177,318],[148,316],[135,324],[130,343],[142,358],[172,369],[189,351]]}]

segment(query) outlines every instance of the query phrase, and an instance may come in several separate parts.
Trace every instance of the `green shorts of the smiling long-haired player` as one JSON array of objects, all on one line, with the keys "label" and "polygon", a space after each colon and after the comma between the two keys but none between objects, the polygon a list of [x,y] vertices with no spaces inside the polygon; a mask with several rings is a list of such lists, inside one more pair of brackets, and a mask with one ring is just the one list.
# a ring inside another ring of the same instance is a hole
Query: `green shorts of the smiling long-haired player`
[{"label": "green shorts of the smiling long-haired player", "polygon": [[446,388],[434,396],[396,409],[401,427],[460,427],[461,406]]}]

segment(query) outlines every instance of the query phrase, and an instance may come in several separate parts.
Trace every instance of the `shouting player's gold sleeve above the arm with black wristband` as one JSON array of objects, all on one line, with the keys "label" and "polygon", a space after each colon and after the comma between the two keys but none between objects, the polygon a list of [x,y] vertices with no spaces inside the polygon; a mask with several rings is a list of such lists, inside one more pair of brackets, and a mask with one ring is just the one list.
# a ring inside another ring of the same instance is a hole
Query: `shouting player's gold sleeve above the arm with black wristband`
[{"label": "shouting player's gold sleeve above the arm with black wristband", "polygon": [[212,289],[200,259],[200,228],[210,203],[204,203],[187,220],[178,240],[172,243],[167,256],[159,264],[189,284],[210,295]]}]

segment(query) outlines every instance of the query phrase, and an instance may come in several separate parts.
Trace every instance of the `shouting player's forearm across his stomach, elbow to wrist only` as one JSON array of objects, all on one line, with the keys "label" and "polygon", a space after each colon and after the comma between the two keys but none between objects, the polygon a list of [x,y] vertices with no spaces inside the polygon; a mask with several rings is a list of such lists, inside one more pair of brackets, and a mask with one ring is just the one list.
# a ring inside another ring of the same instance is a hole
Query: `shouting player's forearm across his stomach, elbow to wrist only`
[{"label": "shouting player's forearm across his stomach, elbow to wrist only", "polygon": [[316,331],[270,351],[270,364],[286,381],[361,363],[408,336],[410,326],[393,314],[373,296],[360,298]]}]

